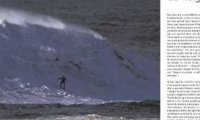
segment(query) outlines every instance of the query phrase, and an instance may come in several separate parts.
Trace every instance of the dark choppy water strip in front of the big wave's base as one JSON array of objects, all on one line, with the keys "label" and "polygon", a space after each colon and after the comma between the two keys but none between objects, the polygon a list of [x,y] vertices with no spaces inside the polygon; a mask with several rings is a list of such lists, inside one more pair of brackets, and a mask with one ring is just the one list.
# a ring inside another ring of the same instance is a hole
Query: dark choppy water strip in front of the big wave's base
[{"label": "dark choppy water strip in front of the big wave's base", "polygon": [[115,102],[115,103],[105,103],[97,105],[0,104],[0,118],[4,119],[60,118],[66,120],[68,119],[80,120],[81,116],[82,117],[84,116],[82,118],[84,120],[93,120],[93,119],[157,120],[160,117],[160,103],[159,101],[143,101],[143,102]]}]

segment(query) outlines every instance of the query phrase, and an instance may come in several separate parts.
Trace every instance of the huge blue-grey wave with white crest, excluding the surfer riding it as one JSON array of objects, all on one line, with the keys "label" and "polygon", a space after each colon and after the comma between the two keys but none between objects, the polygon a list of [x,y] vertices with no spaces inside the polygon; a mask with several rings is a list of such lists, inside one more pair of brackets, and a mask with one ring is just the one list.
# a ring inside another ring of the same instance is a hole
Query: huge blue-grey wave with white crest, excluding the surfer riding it
[{"label": "huge blue-grey wave with white crest, excluding the surfer riding it", "polygon": [[[159,99],[159,64],[152,57],[49,16],[0,11],[0,102]],[[57,80],[62,75],[65,91]]]}]

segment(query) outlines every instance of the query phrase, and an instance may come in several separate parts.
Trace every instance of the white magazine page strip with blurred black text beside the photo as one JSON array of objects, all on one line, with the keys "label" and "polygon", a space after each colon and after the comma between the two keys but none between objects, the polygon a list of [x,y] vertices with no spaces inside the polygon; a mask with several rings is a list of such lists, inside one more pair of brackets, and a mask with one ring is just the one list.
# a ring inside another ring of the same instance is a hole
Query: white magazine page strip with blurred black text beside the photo
[{"label": "white magazine page strip with blurred black text beside the photo", "polygon": [[161,119],[200,119],[200,4],[161,1]]}]

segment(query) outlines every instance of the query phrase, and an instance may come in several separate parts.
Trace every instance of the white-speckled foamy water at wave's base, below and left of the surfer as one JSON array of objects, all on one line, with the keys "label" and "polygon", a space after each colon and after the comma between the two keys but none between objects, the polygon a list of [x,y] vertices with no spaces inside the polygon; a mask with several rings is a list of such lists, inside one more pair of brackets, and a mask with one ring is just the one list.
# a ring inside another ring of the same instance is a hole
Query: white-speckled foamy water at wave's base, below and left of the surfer
[{"label": "white-speckled foamy water at wave's base, below and left of the surfer", "polygon": [[[8,89],[8,88],[12,88]],[[100,104],[103,101],[90,97],[71,95],[63,90],[53,90],[46,85],[34,86],[22,82],[21,78],[5,78],[0,88],[1,103],[60,103],[60,104]]]}]

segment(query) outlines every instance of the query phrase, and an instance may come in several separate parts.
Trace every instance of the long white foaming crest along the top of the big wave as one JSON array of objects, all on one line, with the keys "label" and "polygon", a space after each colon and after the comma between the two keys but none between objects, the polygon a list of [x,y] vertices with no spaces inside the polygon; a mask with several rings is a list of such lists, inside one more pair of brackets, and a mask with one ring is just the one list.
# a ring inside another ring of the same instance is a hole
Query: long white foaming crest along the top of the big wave
[{"label": "long white foaming crest along the top of the big wave", "polygon": [[64,30],[64,31],[76,31],[78,33],[92,35],[93,37],[99,40],[105,40],[103,36],[99,35],[98,33],[92,30],[63,23],[60,20],[53,18],[51,16],[36,15],[33,13],[27,13],[20,10],[0,8],[0,25],[2,27],[6,27],[5,22],[15,24],[15,25],[21,25],[24,27],[31,24],[31,25],[43,26],[46,28]]}]

